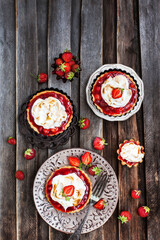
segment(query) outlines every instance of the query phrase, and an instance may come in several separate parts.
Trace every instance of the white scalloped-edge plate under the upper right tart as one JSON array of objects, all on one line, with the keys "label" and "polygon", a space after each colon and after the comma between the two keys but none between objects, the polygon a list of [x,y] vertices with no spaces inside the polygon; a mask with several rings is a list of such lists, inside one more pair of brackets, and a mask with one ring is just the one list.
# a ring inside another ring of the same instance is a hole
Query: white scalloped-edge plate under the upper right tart
[{"label": "white scalloped-edge plate under the upper right tart", "polygon": [[[106,115],[106,114],[100,112],[92,101],[91,89],[92,89],[92,86],[93,86],[93,83],[94,83],[95,79],[97,78],[98,75],[102,74],[104,71],[108,71],[109,69],[111,69],[111,70],[122,70],[122,71],[125,71],[126,73],[129,73],[131,76],[133,76],[133,78],[136,80],[136,83],[138,85],[139,98],[138,98],[138,101],[137,101],[136,105],[134,106],[134,108],[129,113],[126,113],[125,115],[122,115],[122,116]],[[140,79],[140,77],[137,75],[137,73],[132,68],[129,68],[129,67],[127,67],[125,65],[122,65],[122,64],[105,64],[102,67],[98,68],[90,76],[87,87],[86,87],[86,96],[87,96],[88,105],[90,106],[92,111],[98,117],[103,118],[103,119],[108,120],[108,121],[124,121],[124,120],[127,120],[128,118],[130,118],[132,115],[134,115],[136,112],[139,111],[139,109],[141,107],[141,104],[142,104],[142,101],[143,101],[143,98],[144,98],[144,85],[143,85],[143,82]]]}]

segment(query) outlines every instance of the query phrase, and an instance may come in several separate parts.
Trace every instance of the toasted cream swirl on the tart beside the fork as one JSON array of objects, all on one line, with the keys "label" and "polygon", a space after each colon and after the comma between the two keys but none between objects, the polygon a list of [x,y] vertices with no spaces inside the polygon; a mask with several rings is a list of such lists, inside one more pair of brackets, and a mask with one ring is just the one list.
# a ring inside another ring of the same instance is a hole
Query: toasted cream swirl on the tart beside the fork
[{"label": "toasted cream swirl on the tart beside the fork", "polygon": [[[63,188],[69,185],[73,185],[75,187],[74,193],[69,197],[69,200],[66,200],[66,197],[63,194]],[[70,173],[67,175],[58,175],[52,180],[52,190],[51,190],[51,198],[61,204],[65,211],[68,207],[77,206],[84,194],[86,187],[82,179],[80,179],[77,174]]]}]

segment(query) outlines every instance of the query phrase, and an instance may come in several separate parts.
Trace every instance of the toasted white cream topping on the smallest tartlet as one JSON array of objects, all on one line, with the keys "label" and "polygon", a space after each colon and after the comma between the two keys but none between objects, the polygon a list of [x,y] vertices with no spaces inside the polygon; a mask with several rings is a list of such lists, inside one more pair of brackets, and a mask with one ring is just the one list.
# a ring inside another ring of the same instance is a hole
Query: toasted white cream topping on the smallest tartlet
[{"label": "toasted white cream topping on the smallest tartlet", "polygon": [[142,147],[134,142],[125,143],[121,148],[120,155],[128,162],[140,162],[144,157],[141,149]]}]

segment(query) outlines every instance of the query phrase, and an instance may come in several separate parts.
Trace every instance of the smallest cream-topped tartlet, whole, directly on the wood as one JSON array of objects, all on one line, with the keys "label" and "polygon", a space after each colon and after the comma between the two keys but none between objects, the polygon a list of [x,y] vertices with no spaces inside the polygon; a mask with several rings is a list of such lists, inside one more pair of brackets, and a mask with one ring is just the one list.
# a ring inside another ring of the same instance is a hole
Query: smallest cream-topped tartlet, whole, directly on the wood
[{"label": "smallest cream-topped tartlet, whole, directly on the wood", "polygon": [[125,140],[119,144],[119,149],[117,150],[118,159],[122,165],[127,165],[128,167],[137,166],[143,162],[145,154],[143,150],[144,147],[140,146],[139,141],[134,141],[133,139]]}]

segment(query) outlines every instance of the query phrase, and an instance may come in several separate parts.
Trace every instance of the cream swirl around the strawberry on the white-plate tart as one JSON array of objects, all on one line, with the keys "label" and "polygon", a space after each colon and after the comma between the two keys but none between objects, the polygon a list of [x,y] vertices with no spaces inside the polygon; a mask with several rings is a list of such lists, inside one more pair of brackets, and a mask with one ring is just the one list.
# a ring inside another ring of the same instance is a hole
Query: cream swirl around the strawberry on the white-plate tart
[{"label": "cream swirl around the strawberry on the white-plate tart", "polygon": [[[112,97],[112,90],[114,88],[123,89],[122,96],[114,99]],[[111,107],[124,107],[132,97],[132,91],[129,89],[128,79],[124,75],[117,75],[114,78],[109,77],[101,88],[101,95],[104,101]]]}]

